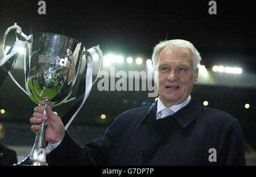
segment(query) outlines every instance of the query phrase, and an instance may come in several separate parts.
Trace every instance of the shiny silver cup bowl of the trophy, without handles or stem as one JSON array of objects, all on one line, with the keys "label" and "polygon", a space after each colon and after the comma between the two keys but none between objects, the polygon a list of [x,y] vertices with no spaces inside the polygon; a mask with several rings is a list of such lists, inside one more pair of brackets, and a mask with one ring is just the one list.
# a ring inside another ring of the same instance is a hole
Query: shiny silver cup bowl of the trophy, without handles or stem
[{"label": "shiny silver cup bowl of the trophy, without handles or stem", "polygon": [[55,33],[31,35],[29,57],[25,57],[25,82],[36,103],[48,99],[52,106],[63,103],[71,94],[85,52],[71,37]]}]

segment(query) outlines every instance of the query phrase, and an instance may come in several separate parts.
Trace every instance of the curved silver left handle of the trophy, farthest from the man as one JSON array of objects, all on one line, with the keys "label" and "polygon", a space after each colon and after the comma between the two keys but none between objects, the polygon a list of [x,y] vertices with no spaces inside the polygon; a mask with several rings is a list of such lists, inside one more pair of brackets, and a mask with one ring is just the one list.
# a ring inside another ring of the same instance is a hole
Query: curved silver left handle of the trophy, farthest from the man
[{"label": "curved silver left handle of the trophy, farthest from the man", "polygon": [[[5,32],[5,35],[3,35],[3,43],[2,43],[2,54],[3,54],[3,57],[6,56],[5,54],[5,40],[6,40],[6,37],[8,35],[8,33],[13,30],[13,29],[16,29],[16,33],[19,33],[19,35],[21,35],[22,37],[24,37],[26,40],[29,39],[29,37],[27,37],[26,35],[24,35],[24,33],[22,32],[22,28],[20,28],[17,23],[14,23],[13,26],[9,27],[6,32]],[[13,75],[11,74],[10,71],[8,71],[8,74],[10,75],[11,77],[11,80],[20,88],[20,90],[22,90],[26,95],[30,95],[30,93],[28,93],[26,90],[24,90],[24,88],[22,86],[19,85],[19,83],[14,79]]]}]

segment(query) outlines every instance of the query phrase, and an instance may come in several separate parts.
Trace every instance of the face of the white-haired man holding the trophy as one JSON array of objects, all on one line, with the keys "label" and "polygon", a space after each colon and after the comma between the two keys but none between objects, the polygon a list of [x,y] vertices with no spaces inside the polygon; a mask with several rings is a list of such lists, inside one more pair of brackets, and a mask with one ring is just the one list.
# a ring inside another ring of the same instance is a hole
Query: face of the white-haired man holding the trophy
[{"label": "face of the white-haired man holding the trophy", "polygon": [[156,84],[164,106],[184,102],[197,83],[198,75],[198,69],[193,70],[189,51],[184,48],[172,51],[166,47],[160,52],[156,67]]}]

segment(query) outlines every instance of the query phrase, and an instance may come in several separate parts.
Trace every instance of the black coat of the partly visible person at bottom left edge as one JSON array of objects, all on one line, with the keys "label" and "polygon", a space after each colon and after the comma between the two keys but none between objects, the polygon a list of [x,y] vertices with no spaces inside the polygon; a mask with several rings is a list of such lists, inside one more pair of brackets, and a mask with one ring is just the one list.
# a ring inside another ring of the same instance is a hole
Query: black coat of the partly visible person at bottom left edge
[{"label": "black coat of the partly visible person at bottom left edge", "polygon": [[0,166],[14,165],[14,163],[17,163],[16,152],[0,144]]}]

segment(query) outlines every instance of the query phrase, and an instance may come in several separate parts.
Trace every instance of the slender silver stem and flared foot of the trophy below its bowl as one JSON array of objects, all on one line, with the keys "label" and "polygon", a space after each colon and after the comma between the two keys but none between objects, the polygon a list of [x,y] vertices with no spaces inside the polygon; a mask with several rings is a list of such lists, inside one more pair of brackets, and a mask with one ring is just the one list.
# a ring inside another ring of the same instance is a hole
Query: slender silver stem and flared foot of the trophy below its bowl
[{"label": "slender silver stem and flared foot of the trophy below its bowl", "polygon": [[[44,107],[44,115],[46,115],[46,108],[50,106],[50,99],[44,98],[42,100],[43,104],[39,106]],[[47,123],[42,121],[41,128],[38,133],[36,133],[35,143],[31,153],[26,159],[16,165],[33,165],[33,166],[47,166],[46,162],[46,128]]]}]

